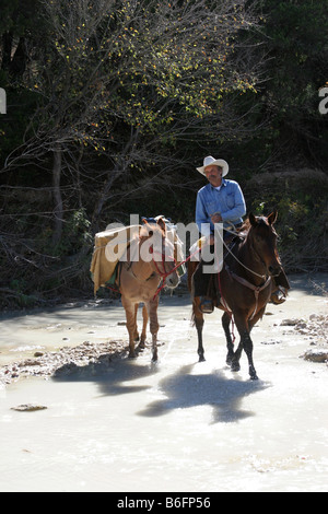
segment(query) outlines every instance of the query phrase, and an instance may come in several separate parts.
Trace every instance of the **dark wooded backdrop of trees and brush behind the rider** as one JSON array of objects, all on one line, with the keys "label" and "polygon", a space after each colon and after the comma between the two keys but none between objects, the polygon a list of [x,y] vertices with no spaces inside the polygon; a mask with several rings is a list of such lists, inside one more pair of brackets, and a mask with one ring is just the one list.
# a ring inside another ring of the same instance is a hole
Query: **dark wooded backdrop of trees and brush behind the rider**
[{"label": "dark wooded backdrop of trees and brush behind the rider", "polygon": [[323,255],[326,183],[253,179],[327,166],[328,0],[0,0],[0,10],[1,282],[14,294],[82,284],[94,232],[113,220],[194,220],[206,154],[230,162],[253,210],[279,210],[291,269],[319,266],[303,249]]}]

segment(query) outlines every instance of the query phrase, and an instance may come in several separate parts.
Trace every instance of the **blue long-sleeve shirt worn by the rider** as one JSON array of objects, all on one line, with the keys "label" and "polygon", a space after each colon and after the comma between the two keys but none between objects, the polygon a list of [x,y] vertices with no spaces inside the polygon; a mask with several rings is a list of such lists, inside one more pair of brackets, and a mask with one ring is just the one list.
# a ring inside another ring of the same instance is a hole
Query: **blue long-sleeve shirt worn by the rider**
[{"label": "blue long-sleeve shirt worn by the rider", "polygon": [[246,205],[242,189],[235,180],[223,178],[220,190],[207,184],[198,191],[196,223],[202,235],[207,236],[214,232],[211,215],[216,212],[221,214],[224,227],[229,226],[229,222],[233,224],[243,222],[242,217],[246,214]]}]

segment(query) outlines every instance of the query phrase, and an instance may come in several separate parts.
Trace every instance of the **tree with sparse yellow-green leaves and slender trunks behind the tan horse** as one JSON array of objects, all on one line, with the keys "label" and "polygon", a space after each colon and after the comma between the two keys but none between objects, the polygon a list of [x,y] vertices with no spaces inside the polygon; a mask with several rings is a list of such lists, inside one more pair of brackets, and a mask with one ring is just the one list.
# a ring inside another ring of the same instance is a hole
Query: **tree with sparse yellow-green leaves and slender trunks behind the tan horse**
[{"label": "tree with sparse yellow-green leaves and slender trunks behind the tan horse", "polygon": [[7,171],[52,154],[58,243],[61,173],[71,155],[92,149],[108,162],[96,227],[118,177],[153,162],[176,166],[181,142],[237,132],[230,95],[254,90],[256,69],[238,69],[233,56],[254,17],[244,0],[51,0],[43,9],[47,35],[30,68],[38,108]]}]

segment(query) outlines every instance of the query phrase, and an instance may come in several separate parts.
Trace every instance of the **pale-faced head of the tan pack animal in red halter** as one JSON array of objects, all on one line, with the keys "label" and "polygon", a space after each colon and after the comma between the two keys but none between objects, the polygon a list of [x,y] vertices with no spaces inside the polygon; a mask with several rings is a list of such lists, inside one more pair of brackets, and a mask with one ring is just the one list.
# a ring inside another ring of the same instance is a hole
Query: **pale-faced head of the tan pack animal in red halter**
[{"label": "pale-faced head of the tan pack animal in red halter", "polygon": [[174,289],[179,283],[179,276],[176,270],[174,245],[167,237],[165,221],[160,218],[156,223],[145,220],[143,222],[140,240],[151,256],[149,261],[153,271],[164,279],[167,288]]}]

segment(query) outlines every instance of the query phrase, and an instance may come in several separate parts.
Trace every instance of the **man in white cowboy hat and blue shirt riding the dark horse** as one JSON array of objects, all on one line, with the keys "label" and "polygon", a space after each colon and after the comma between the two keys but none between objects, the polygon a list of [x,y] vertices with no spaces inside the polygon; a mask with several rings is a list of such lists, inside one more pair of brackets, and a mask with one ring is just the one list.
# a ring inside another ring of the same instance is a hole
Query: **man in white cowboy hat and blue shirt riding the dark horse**
[{"label": "man in white cowboy hat and blue shirt riding the dark horse", "polygon": [[[229,173],[229,164],[223,159],[214,159],[211,155],[203,160],[203,166],[197,171],[204,175],[209,182],[197,194],[196,223],[202,236],[214,250],[214,224],[222,223],[223,238],[230,235],[229,231],[238,229],[243,224],[243,215],[246,214],[246,205],[243,191],[235,180],[224,178]],[[208,295],[210,273],[203,273],[200,261],[194,274],[195,295],[201,296],[200,308],[203,313],[213,312],[213,303]]]}]

